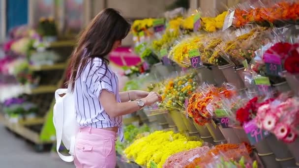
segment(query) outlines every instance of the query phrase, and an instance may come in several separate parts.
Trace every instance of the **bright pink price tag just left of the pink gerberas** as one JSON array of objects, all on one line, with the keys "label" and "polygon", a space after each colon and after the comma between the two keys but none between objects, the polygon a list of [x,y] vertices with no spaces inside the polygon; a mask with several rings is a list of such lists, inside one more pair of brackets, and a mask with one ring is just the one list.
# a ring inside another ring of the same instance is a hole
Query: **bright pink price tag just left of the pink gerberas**
[{"label": "bright pink price tag just left of the pink gerberas", "polygon": [[254,120],[244,124],[243,128],[251,145],[258,143],[269,136],[269,132],[258,128]]}]

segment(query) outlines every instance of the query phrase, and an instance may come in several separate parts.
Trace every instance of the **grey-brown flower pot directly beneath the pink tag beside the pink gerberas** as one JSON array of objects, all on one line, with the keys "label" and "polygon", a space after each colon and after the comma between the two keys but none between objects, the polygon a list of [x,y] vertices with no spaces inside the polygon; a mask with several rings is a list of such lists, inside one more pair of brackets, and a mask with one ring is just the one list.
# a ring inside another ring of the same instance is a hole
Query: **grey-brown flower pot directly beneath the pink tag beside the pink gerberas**
[{"label": "grey-brown flower pot directly beneath the pink tag beside the pink gerberas", "polygon": [[276,162],[275,155],[269,147],[266,139],[259,141],[254,146],[258,151],[258,156],[262,160],[265,168],[280,168],[280,165]]}]

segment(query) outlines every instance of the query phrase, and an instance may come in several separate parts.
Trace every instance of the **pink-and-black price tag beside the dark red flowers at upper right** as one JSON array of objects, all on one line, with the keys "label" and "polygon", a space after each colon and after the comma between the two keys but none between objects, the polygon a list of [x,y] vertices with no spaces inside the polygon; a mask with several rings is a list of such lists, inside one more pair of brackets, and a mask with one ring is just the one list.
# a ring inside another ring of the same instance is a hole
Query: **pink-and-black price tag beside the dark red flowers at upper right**
[{"label": "pink-and-black price tag beside the dark red flowers at upper right", "polygon": [[266,73],[273,76],[279,76],[279,72],[282,71],[280,57],[274,54],[265,53],[263,59],[266,63]]}]

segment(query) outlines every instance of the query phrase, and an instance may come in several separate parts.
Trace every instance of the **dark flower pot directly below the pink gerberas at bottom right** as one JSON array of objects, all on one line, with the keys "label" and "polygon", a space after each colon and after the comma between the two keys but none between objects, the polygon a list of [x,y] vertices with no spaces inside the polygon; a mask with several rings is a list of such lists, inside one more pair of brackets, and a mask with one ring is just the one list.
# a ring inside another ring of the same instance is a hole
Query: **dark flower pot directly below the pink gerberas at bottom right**
[{"label": "dark flower pot directly below the pink gerberas at bottom right", "polygon": [[277,140],[273,134],[267,137],[266,140],[275,155],[275,160],[279,162],[281,167],[286,168],[296,166],[295,159],[284,142]]}]

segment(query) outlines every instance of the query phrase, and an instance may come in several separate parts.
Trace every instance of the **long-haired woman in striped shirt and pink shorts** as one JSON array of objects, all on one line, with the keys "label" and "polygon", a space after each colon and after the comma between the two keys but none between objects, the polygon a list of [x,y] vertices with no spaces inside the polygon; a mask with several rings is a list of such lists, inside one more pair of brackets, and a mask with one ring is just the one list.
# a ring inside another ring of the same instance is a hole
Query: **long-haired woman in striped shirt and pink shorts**
[{"label": "long-haired woman in striped shirt and pink shorts", "polygon": [[118,78],[106,56],[129,31],[130,24],[117,10],[104,9],[83,31],[72,55],[68,84],[81,126],[75,149],[77,168],[115,168],[117,135],[123,141],[121,116],[161,101],[154,92],[119,92]]}]

